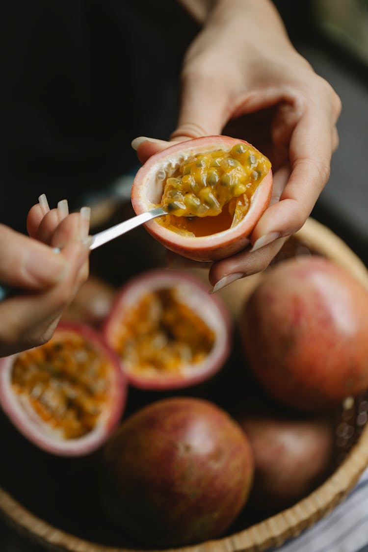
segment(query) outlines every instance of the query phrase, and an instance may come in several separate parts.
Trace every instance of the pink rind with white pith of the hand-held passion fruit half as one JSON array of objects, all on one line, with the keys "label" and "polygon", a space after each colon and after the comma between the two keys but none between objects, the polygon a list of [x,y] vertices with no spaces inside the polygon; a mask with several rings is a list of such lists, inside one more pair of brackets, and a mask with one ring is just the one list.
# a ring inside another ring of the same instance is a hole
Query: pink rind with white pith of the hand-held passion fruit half
[{"label": "pink rind with white pith of the hand-held passion fruit half", "polygon": [[[216,149],[232,147],[239,143],[250,145],[244,140],[229,136],[204,136],[180,142],[150,157],[137,172],[132,186],[131,199],[136,214],[144,213],[153,207],[149,201],[147,202],[145,179],[156,163],[162,162],[165,157],[175,158],[175,156],[180,156],[188,150],[198,153],[201,148],[206,148],[209,145]],[[252,147],[254,148],[254,146]],[[154,220],[147,222],[145,227],[167,249],[194,261],[217,261],[218,259],[230,257],[249,245],[249,235],[270,203],[272,182],[272,172],[270,170],[254,193],[248,214],[243,221],[232,229],[210,236],[186,237],[164,228]]]}]

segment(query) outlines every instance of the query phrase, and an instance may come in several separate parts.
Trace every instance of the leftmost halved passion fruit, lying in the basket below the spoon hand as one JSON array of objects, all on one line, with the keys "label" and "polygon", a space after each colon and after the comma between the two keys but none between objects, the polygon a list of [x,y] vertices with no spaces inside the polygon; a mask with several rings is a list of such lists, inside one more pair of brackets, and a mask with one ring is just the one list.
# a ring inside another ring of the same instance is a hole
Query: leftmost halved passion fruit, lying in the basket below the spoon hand
[{"label": "leftmost halved passion fruit, lying in the basket below the spoon hand", "polygon": [[102,337],[60,323],[52,339],[0,359],[0,404],[14,426],[47,452],[92,452],[118,424],[126,378]]}]

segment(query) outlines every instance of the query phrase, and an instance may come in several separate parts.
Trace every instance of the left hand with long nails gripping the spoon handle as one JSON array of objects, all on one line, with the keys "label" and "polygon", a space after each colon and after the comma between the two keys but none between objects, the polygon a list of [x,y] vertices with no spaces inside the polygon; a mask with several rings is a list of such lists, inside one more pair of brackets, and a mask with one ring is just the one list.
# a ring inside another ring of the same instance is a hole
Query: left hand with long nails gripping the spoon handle
[{"label": "left hand with long nails gripping the spoon handle", "polygon": [[[22,293],[0,303],[0,356],[46,343],[88,277],[88,210],[68,215],[66,202],[29,211],[30,237],[0,225],[0,280]],[[43,243],[42,243],[43,242]],[[54,247],[62,248],[61,253]]]}]

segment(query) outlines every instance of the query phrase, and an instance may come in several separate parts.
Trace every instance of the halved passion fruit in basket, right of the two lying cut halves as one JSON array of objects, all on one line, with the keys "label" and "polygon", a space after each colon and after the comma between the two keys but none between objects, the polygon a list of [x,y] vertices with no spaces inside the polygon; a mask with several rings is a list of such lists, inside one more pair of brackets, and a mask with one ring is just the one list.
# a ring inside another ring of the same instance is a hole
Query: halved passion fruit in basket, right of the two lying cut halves
[{"label": "halved passion fruit in basket, right of the two lying cut halves", "polygon": [[157,269],[127,283],[104,336],[131,385],[175,389],[209,378],[230,351],[225,305],[193,274]]}]

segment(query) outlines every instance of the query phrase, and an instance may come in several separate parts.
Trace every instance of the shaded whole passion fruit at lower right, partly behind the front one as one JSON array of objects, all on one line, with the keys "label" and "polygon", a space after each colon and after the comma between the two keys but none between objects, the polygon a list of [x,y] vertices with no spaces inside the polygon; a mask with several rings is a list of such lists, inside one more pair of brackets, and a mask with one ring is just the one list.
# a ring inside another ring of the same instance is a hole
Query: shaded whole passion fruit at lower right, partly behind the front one
[{"label": "shaded whole passion fruit at lower right, partly behind the front one", "polygon": [[238,422],[254,454],[253,500],[258,507],[291,506],[326,475],[334,450],[327,421],[247,416]]}]

